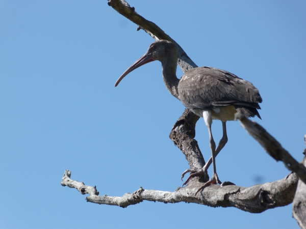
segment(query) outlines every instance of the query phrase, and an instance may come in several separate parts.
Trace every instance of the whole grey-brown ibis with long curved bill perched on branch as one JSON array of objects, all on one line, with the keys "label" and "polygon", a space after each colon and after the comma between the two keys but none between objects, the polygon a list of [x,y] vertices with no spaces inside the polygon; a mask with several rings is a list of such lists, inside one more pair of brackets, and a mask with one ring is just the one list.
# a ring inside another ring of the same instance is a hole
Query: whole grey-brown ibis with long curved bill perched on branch
[{"label": "whole grey-brown ibis with long curved bill perched on branch", "polygon": [[[261,119],[257,110],[260,109],[258,103],[262,102],[258,89],[252,83],[230,72],[211,67],[193,68],[178,79],[176,77],[177,51],[175,45],[166,40],[152,43],[146,53],[119,77],[115,87],[124,76],[152,61],[162,63],[163,79],[170,94],[197,116],[202,117],[208,128],[212,157],[202,169],[192,171],[187,169],[182,178],[187,172],[190,172],[190,176],[184,184],[187,184],[194,176],[205,175],[211,161],[213,176],[197,192],[210,184],[221,184],[217,176],[215,157],[227,142],[226,121],[235,120],[236,112],[244,113],[246,117],[257,116]],[[217,149],[211,130],[213,120],[220,120],[223,129],[223,136]]]}]

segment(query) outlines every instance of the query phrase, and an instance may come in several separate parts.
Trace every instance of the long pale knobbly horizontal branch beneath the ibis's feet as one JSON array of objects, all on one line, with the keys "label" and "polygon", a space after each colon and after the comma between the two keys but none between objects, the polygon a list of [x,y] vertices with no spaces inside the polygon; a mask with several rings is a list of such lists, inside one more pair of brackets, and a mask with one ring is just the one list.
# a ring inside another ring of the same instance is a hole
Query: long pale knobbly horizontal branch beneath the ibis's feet
[{"label": "long pale knobbly horizontal branch beneath the ibis's feet", "polygon": [[286,178],[272,183],[254,185],[249,188],[228,185],[221,187],[211,185],[195,197],[194,193],[202,185],[188,184],[184,188],[177,188],[174,192],[146,190],[140,187],[133,193],[125,193],[122,197],[118,196],[99,196],[96,187],[84,185],[83,182],[70,179],[71,172],[65,170],[62,178],[62,186],[76,188],[82,194],[89,194],[86,201],[94,204],[115,205],[126,208],[129,205],[139,204],[142,201],[154,201],[163,203],[195,203],[211,207],[235,207],[250,213],[260,213],[267,209],[282,207],[292,202],[297,177],[289,174]]}]

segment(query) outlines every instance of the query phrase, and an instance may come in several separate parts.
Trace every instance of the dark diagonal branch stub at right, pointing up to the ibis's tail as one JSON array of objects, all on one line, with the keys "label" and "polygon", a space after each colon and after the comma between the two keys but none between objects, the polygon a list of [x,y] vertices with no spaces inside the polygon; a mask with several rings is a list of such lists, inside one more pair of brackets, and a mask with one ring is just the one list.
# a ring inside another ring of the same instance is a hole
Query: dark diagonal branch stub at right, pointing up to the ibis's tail
[{"label": "dark diagonal branch stub at right, pointing up to the ibis's tail", "polygon": [[261,125],[250,121],[241,113],[237,113],[236,118],[239,119],[241,126],[248,134],[255,138],[271,157],[276,161],[283,161],[286,168],[296,173],[298,178],[306,184],[306,167],[302,163],[298,163]]}]

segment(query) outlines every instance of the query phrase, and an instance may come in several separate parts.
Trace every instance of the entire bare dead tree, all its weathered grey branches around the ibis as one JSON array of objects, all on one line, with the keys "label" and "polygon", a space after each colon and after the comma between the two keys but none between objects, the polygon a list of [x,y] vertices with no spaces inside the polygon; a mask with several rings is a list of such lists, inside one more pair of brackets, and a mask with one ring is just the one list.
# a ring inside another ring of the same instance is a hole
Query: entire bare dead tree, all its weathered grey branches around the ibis
[{"label": "entire bare dead tree, all its weathered grey branches around the ibis", "polygon": [[[155,40],[168,40],[174,43],[179,50],[179,60],[177,64],[183,72],[197,67],[188,57],[186,52],[172,38],[161,30],[155,23],[146,20],[135,12],[134,7],[130,7],[124,0],[109,0],[108,5],[118,13],[125,16],[138,25],[137,30],[144,30]],[[282,148],[264,128],[247,118],[240,116],[241,125],[253,136],[275,160],[282,160],[285,166],[294,173],[286,178],[271,183],[254,185],[248,188],[236,185],[210,185],[194,194],[205,182],[203,177],[192,178],[186,187],[177,188],[174,192],[146,190],[140,187],[133,193],[125,193],[122,197],[99,196],[96,187],[86,186],[83,182],[70,179],[71,172],[65,170],[62,178],[62,186],[76,188],[82,194],[89,194],[86,200],[96,204],[115,205],[127,207],[142,201],[158,201],[164,203],[197,203],[211,207],[235,207],[251,213],[260,213],[267,209],[282,207],[292,203],[294,217],[302,228],[306,228],[305,223],[305,200],[306,200],[306,169],[303,164],[295,161],[292,156]],[[174,124],[169,137],[174,144],[184,153],[191,169],[200,169],[205,165],[205,160],[200,152],[195,137],[195,125],[199,117],[186,109],[183,115]],[[208,179],[208,176],[206,176]],[[298,183],[298,188],[297,187]],[[296,194],[295,194],[296,192]],[[295,197],[294,197],[295,195]]]}]

